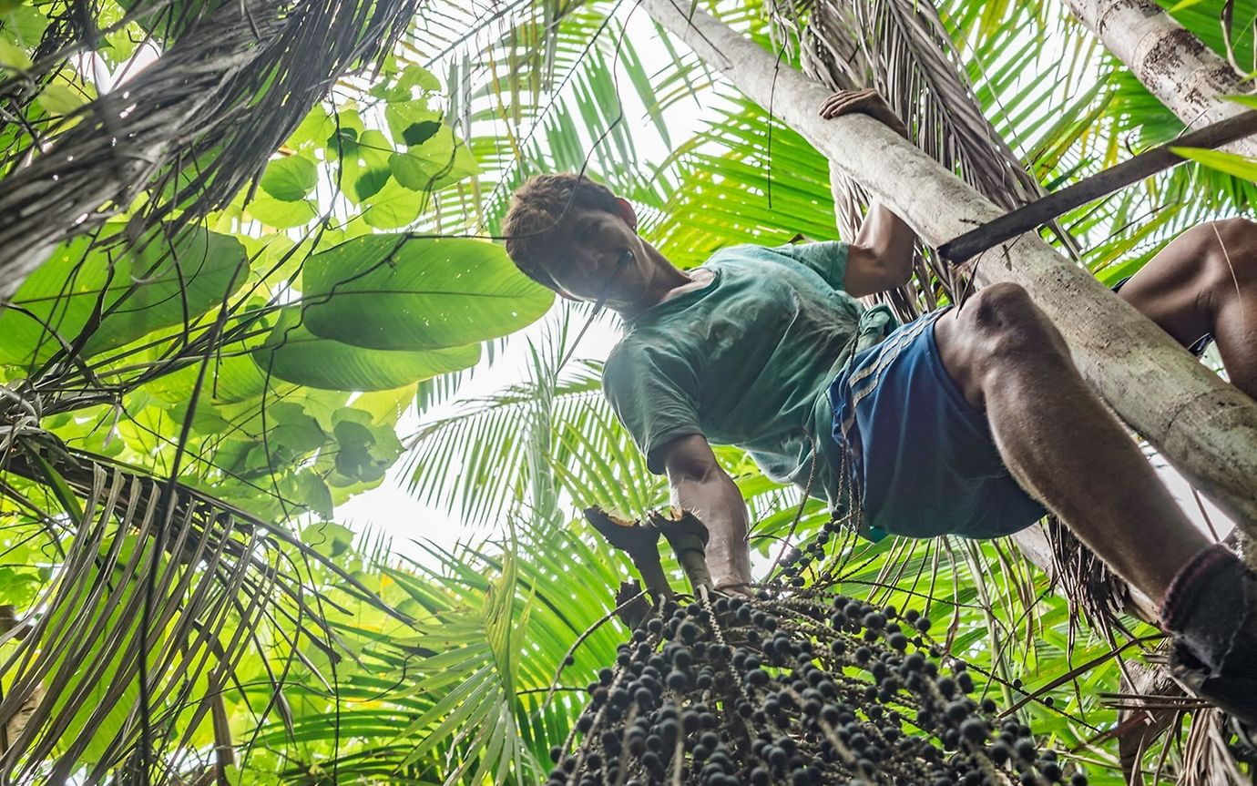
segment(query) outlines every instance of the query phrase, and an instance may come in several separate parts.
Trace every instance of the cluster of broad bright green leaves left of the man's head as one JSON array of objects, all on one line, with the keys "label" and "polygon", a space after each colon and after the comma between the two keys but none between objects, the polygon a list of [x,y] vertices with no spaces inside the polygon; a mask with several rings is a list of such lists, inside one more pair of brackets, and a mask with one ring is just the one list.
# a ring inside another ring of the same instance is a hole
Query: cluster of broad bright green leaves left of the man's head
[{"label": "cluster of broad bright green leaves left of the man's head", "polygon": [[316,106],[204,224],[137,236],[122,214],[54,249],[0,308],[0,381],[68,391],[43,421],[68,445],[178,460],[259,516],[328,517],[381,483],[417,384],[474,366],[553,297],[491,243],[378,234],[478,171],[430,108],[439,88],[390,67],[363,103]]}]

